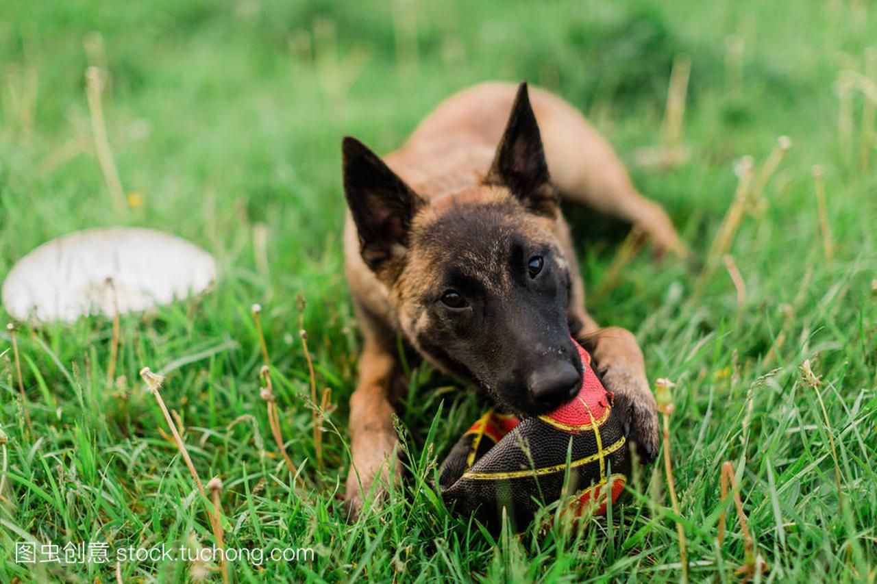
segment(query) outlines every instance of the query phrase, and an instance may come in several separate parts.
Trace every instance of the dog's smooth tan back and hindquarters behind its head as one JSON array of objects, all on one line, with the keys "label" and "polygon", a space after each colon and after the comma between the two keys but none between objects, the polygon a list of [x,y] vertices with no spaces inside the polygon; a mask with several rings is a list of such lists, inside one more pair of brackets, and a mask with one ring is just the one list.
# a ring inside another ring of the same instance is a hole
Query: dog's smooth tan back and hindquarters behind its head
[{"label": "dog's smooth tan back and hindquarters behind its head", "polygon": [[[485,82],[460,91],[384,160],[425,198],[476,184],[493,160],[516,89]],[[643,225],[660,251],[684,253],[664,210],[639,195],[612,146],[578,110],[545,89],[530,88],[530,100],[561,196]]]}]

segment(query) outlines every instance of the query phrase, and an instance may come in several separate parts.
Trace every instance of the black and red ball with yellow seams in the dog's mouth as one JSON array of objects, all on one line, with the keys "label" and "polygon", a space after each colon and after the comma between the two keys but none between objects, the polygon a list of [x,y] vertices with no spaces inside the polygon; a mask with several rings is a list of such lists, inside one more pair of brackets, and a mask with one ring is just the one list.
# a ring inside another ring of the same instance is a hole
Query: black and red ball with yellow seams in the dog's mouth
[{"label": "black and red ball with yellow seams in the dog's mouth", "polygon": [[439,487],[455,513],[475,513],[481,523],[498,527],[505,508],[523,530],[541,505],[565,492],[570,449],[569,495],[561,504],[574,516],[602,515],[607,499],[617,500],[630,473],[624,432],[590,355],[576,346],[584,379],[572,401],[520,420],[490,410],[453,446],[439,467]]}]

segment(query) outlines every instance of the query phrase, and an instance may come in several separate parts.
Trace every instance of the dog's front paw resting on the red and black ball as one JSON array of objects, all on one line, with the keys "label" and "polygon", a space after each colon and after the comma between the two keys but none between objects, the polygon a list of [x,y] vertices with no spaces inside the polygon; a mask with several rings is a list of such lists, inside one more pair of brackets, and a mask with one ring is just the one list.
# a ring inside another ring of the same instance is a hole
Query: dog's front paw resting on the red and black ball
[{"label": "dog's front paw resting on the red and black ball", "polygon": [[622,424],[624,436],[648,464],[658,456],[658,404],[648,381],[610,368],[602,374],[603,385],[615,394],[612,410]]}]

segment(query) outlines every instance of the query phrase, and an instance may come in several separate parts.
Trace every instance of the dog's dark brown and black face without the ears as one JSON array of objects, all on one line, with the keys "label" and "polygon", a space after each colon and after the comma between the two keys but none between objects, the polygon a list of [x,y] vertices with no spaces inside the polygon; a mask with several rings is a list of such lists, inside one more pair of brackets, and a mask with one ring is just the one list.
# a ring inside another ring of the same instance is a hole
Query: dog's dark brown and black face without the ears
[{"label": "dog's dark brown and black face without the ears", "polygon": [[581,387],[569,270],[553,236],[510,206],[461,205],[418,235],[410,253],[430,255],[432,283],[403,328],[441,367],[538,415]]}]

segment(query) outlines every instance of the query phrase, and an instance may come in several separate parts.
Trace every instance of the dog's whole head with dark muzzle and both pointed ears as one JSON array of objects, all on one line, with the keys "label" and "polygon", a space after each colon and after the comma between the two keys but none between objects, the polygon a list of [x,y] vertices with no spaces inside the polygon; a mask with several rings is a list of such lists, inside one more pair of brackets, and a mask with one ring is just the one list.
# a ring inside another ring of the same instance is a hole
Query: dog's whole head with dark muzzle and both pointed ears
[{"label": "dog's whole head with dark muzzle and both pointed ears", "polygon": [[367,266],[411,344],[524,415],[581,386],[559,198],[526,84],[483,180],[430,201],[359,141],[344,141],[347,203]]}]

